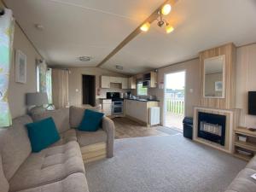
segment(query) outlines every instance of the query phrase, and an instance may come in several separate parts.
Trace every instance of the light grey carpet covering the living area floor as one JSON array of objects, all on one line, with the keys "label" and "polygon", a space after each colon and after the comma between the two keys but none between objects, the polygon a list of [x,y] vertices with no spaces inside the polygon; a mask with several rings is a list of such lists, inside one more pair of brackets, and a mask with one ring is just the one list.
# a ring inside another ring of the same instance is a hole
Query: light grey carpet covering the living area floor
[{"label": "light grey carpet covering the living area floor", "polygon": [[115,141],[114,157],[85,166],[90,192],[224,191],[246,162],[182,135]]}]

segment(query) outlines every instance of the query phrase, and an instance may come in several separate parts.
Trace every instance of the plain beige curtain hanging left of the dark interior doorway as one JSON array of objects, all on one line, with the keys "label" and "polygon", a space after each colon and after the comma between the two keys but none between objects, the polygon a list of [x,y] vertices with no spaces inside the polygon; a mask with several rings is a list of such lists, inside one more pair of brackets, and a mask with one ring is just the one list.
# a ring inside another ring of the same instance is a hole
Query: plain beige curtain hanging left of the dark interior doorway
[{"label": "plain beige curtain hanging left of the dark interior doorway", "polygon": [[55,108],[67,108],[68,70],[52,69],[52,101]]}]

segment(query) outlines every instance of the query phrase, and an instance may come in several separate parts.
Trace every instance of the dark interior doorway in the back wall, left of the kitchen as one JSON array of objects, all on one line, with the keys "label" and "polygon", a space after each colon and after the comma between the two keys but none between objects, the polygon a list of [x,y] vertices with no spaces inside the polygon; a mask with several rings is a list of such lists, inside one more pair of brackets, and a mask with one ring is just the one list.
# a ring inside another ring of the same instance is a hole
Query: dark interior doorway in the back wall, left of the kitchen
[{"label": "dark interior doorway in the back wall, left of the kitchen", "polygon": [[96,78],[94,75],[82,76],[83,105],[96,105]]}]

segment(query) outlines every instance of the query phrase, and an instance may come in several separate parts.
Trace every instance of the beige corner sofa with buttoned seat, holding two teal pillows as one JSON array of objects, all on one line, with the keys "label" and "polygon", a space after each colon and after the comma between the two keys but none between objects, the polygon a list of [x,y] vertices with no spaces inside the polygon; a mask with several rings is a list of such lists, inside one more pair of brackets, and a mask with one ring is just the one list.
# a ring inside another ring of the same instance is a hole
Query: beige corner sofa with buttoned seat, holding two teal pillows
[{"label": "beige corner sofa with buttoned seat, holding two teal pillows", "polygon": [[[84,108],[71,107],[13,120],[8,129],[0,129],[1,192],[88,192],[81,148],[106,143],[106,156],[113,156],[114,125],[104,117],[102,129],[81,132]],[[32,119],[51,116],[61,140],[39,153],[32,153],[26,124]]]}]

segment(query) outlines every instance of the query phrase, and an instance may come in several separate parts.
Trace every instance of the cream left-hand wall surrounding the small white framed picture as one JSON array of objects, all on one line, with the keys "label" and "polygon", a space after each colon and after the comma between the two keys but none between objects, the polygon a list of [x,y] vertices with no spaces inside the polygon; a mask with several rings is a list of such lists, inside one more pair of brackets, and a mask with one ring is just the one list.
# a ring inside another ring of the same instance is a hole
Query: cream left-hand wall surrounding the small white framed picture
[{"label": "cream left-hand wall surrounding the small white framed picture", "polygon": [[[26,84],[15,82],[15,49],[20,49],[26,55]],[[26,93],[37,90],[36,59],[42,58],[20,27],[15,24],[14,52],[9,79],[9,107],[13,118],[26,113]]]}]

